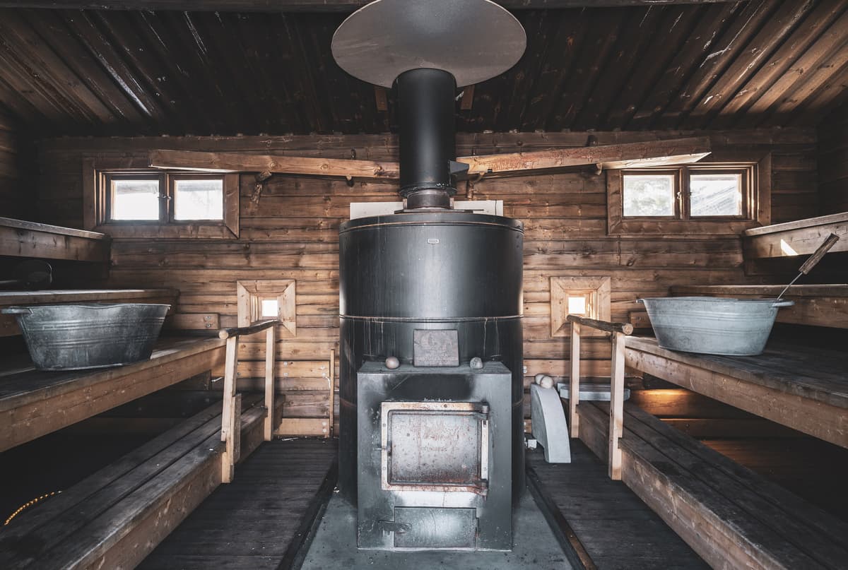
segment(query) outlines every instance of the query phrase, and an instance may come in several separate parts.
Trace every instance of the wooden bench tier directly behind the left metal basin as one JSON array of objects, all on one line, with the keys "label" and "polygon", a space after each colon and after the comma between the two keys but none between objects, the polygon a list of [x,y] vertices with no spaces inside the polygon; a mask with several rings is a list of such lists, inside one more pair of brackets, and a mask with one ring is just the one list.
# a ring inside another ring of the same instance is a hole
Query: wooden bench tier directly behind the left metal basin
[{"label": "wooden bench tier directly behind the left metal basin", "polygon": [[[16,305],[61,303],[176,303],[175,289],[53,289],[47,291],[0,291],[0,309]],[[0,337],[20,334],[13,315],[0,315]]]}]

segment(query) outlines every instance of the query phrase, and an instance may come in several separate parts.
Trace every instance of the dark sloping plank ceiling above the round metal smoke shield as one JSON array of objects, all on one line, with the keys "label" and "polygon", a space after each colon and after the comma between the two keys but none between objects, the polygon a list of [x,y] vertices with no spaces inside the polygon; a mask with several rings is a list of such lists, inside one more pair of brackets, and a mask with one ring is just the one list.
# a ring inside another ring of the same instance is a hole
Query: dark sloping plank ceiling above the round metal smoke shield
[{"label": "dark sloping plank ceiling above the round metal smoke shield", "polygon": [[[527,53],[460,131],[812,126],[848,92],[848,0],[515,14]],[[391,94],[332,59],[344,17],[3,8],[0,111],[36,136],[390,131]]]}]

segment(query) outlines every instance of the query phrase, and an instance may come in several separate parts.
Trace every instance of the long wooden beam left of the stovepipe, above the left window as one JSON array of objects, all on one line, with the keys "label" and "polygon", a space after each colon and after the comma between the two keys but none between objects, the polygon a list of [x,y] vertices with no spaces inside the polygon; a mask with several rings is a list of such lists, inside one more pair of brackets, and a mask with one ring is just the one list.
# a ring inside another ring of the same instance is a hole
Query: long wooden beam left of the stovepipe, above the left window
[{"label": "long wooden beam left of the stovepipe, above the left window", "polygon": [[306,176],[352,176],[396,180],[399,166],[373,160],[313,159],[274,154],[203,153],[187,150],[152,150],[150,166],[167,170],[201,172],[272,172]]}]

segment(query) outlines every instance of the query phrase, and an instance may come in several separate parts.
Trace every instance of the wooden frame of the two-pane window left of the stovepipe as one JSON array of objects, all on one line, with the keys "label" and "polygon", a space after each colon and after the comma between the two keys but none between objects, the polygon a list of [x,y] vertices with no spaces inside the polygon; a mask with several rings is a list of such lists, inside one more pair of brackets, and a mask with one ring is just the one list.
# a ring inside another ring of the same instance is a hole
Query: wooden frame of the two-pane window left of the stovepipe
[{"label": "wooden frame of the two-pane window left of the stovepipe", "polygon": [[[193,173],[137,166],[137,159],[83,160],[83,224],[86,230],[111,237],[199,237],[236,239],[238,237],[239,176],[237,173]],[[159,220],[112,220],[110,209],[112,181],[117,178],[159,179]],[[220,179],[223,184],[222,220],[174,220],[171,204],[176,180]]]}]

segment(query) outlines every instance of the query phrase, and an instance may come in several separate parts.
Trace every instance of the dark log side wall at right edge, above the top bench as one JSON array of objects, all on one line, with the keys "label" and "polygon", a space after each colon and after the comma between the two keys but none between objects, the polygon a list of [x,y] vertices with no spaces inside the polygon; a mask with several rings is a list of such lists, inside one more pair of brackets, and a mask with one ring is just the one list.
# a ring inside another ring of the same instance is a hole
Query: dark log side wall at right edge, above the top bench
[{"label": "dark log side wall at right edge, above the top bench", "polygon": [[821,214],[848,212],[848,103],[818,126]]}]

